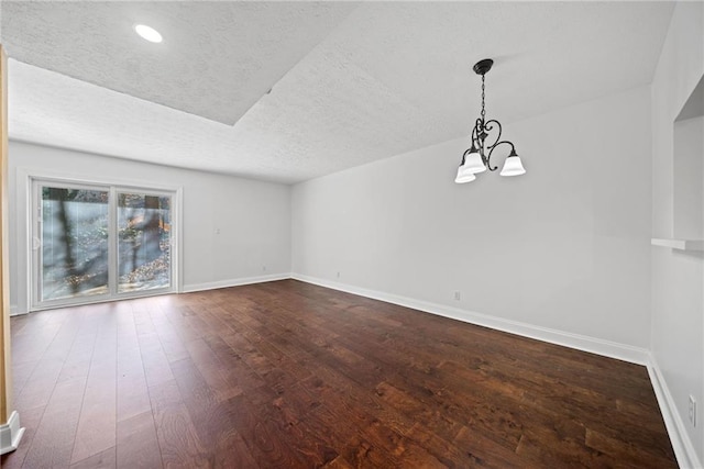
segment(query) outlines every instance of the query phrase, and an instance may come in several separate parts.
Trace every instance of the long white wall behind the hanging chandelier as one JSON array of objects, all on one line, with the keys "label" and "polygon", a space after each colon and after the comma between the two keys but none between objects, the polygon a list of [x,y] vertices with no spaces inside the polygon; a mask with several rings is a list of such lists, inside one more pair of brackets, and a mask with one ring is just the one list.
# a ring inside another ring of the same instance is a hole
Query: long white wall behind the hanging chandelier
[{"label": "long white wall behind the hanging chandelier", "polygon": [[461,138],[295,186],[293,271],[645,354],[649,88],[504,125],[525,176],[455,185]]}]

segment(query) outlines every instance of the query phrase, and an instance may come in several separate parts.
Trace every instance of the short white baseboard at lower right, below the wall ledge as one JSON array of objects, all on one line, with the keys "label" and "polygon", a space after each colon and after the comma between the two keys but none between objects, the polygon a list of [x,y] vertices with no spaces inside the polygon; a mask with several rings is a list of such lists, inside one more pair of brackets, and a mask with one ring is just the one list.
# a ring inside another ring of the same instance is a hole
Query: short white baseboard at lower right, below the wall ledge
[{"label": "short white baseboard at lower right, below the wall ledge", "polygon": [[700,462],[696,450],[686,433],[684,422],[678,412],[678,407],[674,405],[674,400],[672,399],[668,383],[652,355],[650,355],[648,360],[648,375],[650,376],[650,382],[656,392],[656,398],[658,398],[658,405],[660,405],[662,420],[668,428],[670,443],[672,443],[674,456],[678,458],[678,465],[682,469],[701,469],[704,466]]}]

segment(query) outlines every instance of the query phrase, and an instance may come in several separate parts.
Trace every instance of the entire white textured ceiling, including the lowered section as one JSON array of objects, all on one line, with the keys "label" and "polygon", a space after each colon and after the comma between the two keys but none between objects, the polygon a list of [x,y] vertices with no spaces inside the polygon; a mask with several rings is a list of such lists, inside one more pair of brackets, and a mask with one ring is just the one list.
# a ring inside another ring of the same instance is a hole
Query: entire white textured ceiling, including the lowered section
[{"label": "entire white textured ceiling, including the lowered section", "polygon": [[504,124],[647,85],[672,7],[3,1],[10,137],[297,182],[466,135],[481,58]]}]

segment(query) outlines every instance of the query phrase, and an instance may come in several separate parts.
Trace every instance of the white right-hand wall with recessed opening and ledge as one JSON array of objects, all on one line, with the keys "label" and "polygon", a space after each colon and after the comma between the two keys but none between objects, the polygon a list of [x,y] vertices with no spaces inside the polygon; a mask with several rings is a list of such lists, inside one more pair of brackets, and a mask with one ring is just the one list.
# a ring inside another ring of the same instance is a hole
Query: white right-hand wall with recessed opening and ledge
[{"label": "white right-hand wall with recessed opening and ledge", "polygon": [[[652,237],[673,235],[673,122],[703,74],[703,3],[678,2],[652,82]],[[651,256],[653,361],[682,439],[704,461],[704,257],[658,246]],[[696,428],[690,394],[700,406]]]}]

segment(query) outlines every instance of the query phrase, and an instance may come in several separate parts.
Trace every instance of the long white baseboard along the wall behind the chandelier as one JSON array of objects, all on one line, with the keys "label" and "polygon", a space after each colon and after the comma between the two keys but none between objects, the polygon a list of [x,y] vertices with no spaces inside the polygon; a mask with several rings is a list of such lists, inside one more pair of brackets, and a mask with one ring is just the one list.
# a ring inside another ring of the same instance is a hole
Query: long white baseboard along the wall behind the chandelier
[{"label": "long white baseboard along the wall behind the chandelier", "polygon": [[367,290],[345,283],[339,283],[330,280],[309,277],[300,273],[292,273],[292,278],[307,283],[314,283],[333,290],[345,291],[348,293],[359,294],[361,297],[374,300],[385,301],[387,303],[398,304],[414,310],[424,311],[426,313],[437,314],[444,317],[462,321],[470,324],[476,324],[484,327],[507,332],[510,334],[530,337],[550,344],[562,345],[564,347],[575,348],[578,350],[588,351],[609,358],[616,358],[638,365],[648,365],[649,351],[646,348],[634,347],[630,345],[619,344],[616,342],[604,340],[596,337],[590,337],[580,334],[572,334],[564,331],[552,330],[548,327],[536,326],[532,324],[521,323],[518,321],[506,320],[502,317],[490,316],[487,314],[476,313],[473,311],[461,310],[459,308],[447,306],[444,304],[430,303],[413,298],[400,297],[391,293],[384,293],[375,290]]}]

